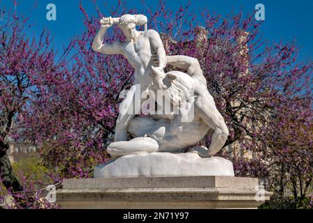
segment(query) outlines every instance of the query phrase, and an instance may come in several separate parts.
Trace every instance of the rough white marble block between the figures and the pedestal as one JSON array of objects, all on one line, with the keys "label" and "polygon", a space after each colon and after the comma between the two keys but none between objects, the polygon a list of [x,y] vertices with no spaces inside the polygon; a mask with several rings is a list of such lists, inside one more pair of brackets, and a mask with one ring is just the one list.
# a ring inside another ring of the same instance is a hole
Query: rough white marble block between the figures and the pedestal
[{"label": "rough white marble block between the figures and the pedestal", "polygon": [[232,162],[198,153],[141,153],[124,155],[95,167],[94,178],[137,176],[234,176]]}]

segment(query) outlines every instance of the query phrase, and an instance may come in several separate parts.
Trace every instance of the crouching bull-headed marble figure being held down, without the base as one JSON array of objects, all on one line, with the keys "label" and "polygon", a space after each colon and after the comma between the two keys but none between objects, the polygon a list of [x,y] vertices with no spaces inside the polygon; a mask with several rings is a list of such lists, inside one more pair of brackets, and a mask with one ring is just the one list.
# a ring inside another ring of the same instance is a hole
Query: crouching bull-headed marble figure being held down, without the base
[{"label": "crouching bull-headed marble figure being held down, without the base", "polygon": [[[179,153],[182,148],[198,143],[208,132],[214,130],[209,149],[194,147],[201,157],[211,157],[220,151],[228,136],[228,129],[223,117],[216,109],[214,99],[207,90],[207,82],[202,75],[198,60],[189,56],[167,56],[169,65],[187,70],[164,73],[163,69],[152,66],[154,85],[151,89],[163,90],[171,98],[174,106],[181,106],[185,101],[193,100],[193,120],[182,121],[182,112],[172,119],[157,115],[135,117],[131,120],[128,132],[134,139],[115,141],[107,151],[113,156],[137,153],[171,152]],[[160,84],[161,82],[161,84]],[[193,92],[191,95],[190,92]]]}]

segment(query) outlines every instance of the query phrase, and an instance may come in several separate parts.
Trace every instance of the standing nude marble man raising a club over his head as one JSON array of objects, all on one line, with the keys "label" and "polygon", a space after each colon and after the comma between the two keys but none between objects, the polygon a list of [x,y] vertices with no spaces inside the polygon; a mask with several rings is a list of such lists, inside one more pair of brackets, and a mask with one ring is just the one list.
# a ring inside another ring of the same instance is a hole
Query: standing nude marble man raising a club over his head
[{"label": "standing nude marble man raising a club over his head", "polygon": [[[135,69],[134,86],[128,91],[125,100],[120,105],[120,114],[115,128],[114,141],[127,141],[127,126],[141,108],[141,100],[135,101],[135,92],[140,84],[140,92],[148,91],[152,78],[152,54],[157,55],[157,66],[160,69],[166,67],[166,52],[157,31],[147,30],[147,17],[144,15],[122,15],[119,18],[104,17],[100,21],[101,29],[93,40],[93,50],[102,54],[122,54]],[[104,34],[113,24],[118,24],[126,36],[123,43],[103,43]],[[137,31],[136,26],[145,25],[145,31]],[[134,102],[135,101],[135,102]],[[128,111],[128,105],[135,104],[134,111]]]}]

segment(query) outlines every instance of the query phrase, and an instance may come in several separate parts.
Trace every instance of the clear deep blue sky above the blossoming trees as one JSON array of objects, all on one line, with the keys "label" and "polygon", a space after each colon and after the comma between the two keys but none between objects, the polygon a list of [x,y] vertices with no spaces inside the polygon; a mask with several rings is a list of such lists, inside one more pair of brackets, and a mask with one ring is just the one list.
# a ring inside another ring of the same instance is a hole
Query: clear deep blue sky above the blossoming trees
[{"label": "clear deep blue sky above the blossoming trees", "polygon": [[[69,43],[70,38],[83,31],[82,15],[79,10],[79,0],[17,0],[17,11],[30,17],[30,21],[35,24],[29,29],[29,35],[38,35],[42,27],[45,27],[54,34],[54,46],[62,49]],[[36,3],[36,7],[33,8]],[[88,14],[95,14],[93,1],[82,0],[83,6]],[[108,8],[118,4],[117,0],[98,0],[98,6],[106,15]],[[157,7],[159,1],[145,1],[145,5],[152,10]],[[191,1],[190,12],[199,15],[203,8],[209,9],[221,15],[228,15],[232,12],[254,13],[255,5],[263,3],[265,6],[266,18],[262,24],[262,35],[271,42],[284,43],[296,39],[296,45],[300,47],[299,59],[313,58],[313,1],[311,0],[195,0]],[[48,3],[56,5],[56,21],[47,21],[46,6]],[[186,6],[188,0],[167,1],[170,10],[177,10],[179,6]],[[0,0],[0,7],[13,8],[13,1]],[[127,1],[127,8],[136,8],[141,11],[145,8],[141,0]],[[200,15],[198,16],[200,20]]]}]

